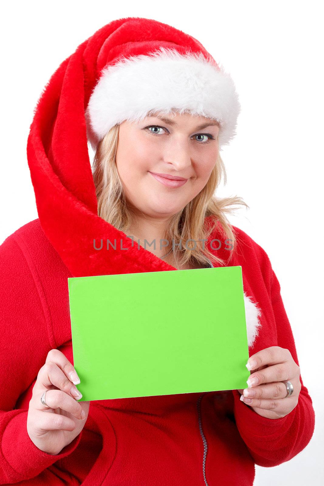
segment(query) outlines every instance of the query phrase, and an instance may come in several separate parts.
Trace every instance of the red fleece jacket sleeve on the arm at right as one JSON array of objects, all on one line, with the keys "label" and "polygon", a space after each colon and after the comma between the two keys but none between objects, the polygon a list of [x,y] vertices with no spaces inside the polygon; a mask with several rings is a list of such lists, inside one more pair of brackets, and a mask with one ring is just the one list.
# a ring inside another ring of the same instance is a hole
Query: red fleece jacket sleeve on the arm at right
[{"label": "red fleece jacket sleeve on the arm at right", "polygon": [[[290,322],[280,294],[280,285],[270,261],[269,265],[272,276],[271,301],[277,330],[276,346],[289,349],[295,363],[299,366]],[[302,388],[296,407],[285,417],[277,419],[261,417],[240,401],[241,395],[238,390],[232,390],[234,415],[239,434],[258,466],[278,466],[292,459],[309,443],[314,432],[315,414],[312,400],[301,377],[300,382]]]}]

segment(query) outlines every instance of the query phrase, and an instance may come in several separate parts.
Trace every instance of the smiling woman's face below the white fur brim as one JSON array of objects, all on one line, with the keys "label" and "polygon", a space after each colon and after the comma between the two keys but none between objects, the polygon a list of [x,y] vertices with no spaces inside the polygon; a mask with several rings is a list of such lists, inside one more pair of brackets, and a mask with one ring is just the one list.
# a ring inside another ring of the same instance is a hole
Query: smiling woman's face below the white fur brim
[{"label": "smiling woman's face below the white fur brim", "polygon": [[182,210],[205,187],[215,166],[218,132],[214,120],[187,113],[163,120],[154,113],[140,122],[121,123],[116,164],[127,203],[153,218]]}]

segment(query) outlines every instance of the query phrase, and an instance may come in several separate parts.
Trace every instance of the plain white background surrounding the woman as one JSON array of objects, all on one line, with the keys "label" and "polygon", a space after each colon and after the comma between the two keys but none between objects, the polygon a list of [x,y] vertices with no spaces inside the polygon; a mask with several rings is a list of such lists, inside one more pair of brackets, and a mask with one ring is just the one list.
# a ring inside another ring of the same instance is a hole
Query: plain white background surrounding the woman
[{"label": "plain white background surrounding the woman", "polygon": [[[229,219],[268,253],[316,414],[307,448],[256,486],[320,485],[323,477],[323,17],[320,2],[55,1],[2,6],[0,243],[37,218],[26,157],[36,102],[59,64],[96,30],[146,17],[198,39],[239,93],[237,137],[224,147],[228,183],[250,209]],[[215,464],[217,468],[218,465]]]}]

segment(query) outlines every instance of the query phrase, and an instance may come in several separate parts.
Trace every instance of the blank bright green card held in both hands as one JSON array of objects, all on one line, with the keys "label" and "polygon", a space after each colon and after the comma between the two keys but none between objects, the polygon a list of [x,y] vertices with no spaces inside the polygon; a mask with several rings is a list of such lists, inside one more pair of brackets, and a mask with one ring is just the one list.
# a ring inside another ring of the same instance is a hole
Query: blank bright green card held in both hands
[{"label": "blank bright green card held in both hands", "polygon": [[240,266],[68,278],[79,401],[246,387]]}]

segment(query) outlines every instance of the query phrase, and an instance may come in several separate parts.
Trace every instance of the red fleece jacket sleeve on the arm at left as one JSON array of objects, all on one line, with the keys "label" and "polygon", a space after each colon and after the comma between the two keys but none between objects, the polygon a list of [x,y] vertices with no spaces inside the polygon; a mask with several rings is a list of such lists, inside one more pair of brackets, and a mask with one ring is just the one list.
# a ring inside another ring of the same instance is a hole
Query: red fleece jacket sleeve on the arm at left
[{"label": "red fleece jacket sleeve on the arm at left", "polygon": [[28,410],[15,406],[51,346],[31,270],[13,237],[0,245],[0,286],[0,484],[12,484],[34,478],[74,451],[82,432],[60,454],[47,454],[27,433]]}]

